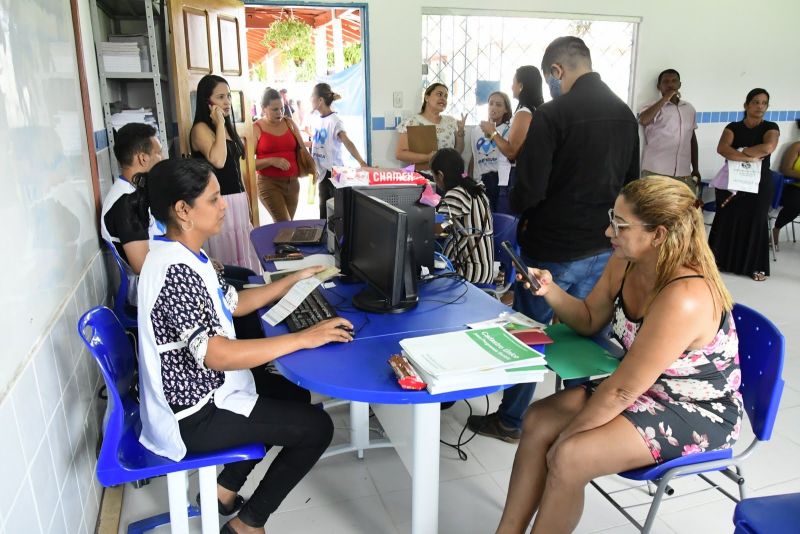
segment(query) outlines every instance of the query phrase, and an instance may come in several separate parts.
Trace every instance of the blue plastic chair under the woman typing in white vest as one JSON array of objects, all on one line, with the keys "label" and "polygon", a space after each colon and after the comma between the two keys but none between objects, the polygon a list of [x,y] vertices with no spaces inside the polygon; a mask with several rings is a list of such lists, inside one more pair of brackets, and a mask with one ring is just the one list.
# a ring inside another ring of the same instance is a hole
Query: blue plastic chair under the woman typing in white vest
[{"label": "blue plastic chair under the woman typing in white vest", "polygon": [[[170,523],[173,534],[189,531],[189,517],[202,515],[204,534],[219,532],[216,466],[258,460],[264,457],[263,445],[244,445],[208,454],[187,454],[180,462],[158,456],[141,443],[139,404],[133,396],[134,359],[131,344],[114,313],[100,306],[86,312],[78,321],[78,334],[94,356],[108,390],[108,413],[97,459],[97,479],[105,486],[167,475],[169,513],[142,519],[128,526],[129,534],[146,532]],[[187,471],[199,470],[201,514],[187,499]]]}]

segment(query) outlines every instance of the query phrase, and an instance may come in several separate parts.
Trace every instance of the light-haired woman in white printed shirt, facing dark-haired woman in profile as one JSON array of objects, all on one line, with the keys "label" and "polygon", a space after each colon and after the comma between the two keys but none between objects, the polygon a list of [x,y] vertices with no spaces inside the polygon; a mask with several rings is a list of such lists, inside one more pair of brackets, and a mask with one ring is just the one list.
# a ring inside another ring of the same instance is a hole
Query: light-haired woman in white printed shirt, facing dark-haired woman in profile
[{"label": "light-haired woman in white printed shirt, facing dark-haired woman in profile", "polygon": [[[472,159],[469,162],[469,175],[480,176],[494,213],[497,211],[497,202],[500,198],[501,186],[498,175],[500,160],[508,163],[506,157],[497,149],[495,139],[508,135],[511,129],[511,101],[502,91],[495,91],[489,95],[489,122],[495,127],[489,135],[484,134],[480,127],[470,128],[468,144],[472,149]],[[502,187],[505,189],[506,185],[503,184]]]}]

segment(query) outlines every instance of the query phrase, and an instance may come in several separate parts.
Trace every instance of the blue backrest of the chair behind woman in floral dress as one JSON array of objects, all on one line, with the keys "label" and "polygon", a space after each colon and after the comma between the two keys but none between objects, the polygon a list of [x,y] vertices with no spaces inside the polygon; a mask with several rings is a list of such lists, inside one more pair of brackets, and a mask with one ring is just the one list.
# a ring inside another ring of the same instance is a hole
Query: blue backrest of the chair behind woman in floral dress
[{"label": "blue backrest of the chair behind woman in floral dress", "polygon": [[783,334],[772,321],[743,304],[733,307],[739,336],[739,391],[753,432],[761,441],[772,436],[783,392]]}]

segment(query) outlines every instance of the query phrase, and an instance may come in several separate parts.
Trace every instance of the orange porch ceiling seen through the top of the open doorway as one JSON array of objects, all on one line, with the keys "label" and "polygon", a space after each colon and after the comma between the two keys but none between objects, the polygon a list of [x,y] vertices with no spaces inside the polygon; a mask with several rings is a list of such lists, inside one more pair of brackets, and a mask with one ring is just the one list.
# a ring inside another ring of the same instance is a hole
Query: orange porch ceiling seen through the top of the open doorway
[{"label": "orange porch ceiling seen through the top of the open doorway", "polygon": [[333,28],[328,24],[334,15],[342,21],[342,38],[345,46],[361,42],[361,12],[350,8],[288,8],[288,7],[245,7],[245,27],[247,28],[247,58],[252,65],[267,55],[267,47],[261,41],[264,32],[275,20],[294,16],[312,28],[327,25],[328,48],[333,48]]}]

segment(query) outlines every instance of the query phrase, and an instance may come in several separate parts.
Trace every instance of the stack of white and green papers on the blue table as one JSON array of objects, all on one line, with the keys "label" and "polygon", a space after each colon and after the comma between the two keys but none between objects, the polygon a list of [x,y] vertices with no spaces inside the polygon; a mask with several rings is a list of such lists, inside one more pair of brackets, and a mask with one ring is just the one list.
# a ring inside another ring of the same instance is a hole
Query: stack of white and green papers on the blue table
[{"label": "stack of white and green papers on the blue table", "polygon": [[400,346],[432,394],[541,382],[547,372],[541,352],[500,326],[407,338]]}]

